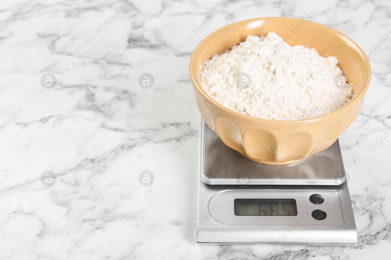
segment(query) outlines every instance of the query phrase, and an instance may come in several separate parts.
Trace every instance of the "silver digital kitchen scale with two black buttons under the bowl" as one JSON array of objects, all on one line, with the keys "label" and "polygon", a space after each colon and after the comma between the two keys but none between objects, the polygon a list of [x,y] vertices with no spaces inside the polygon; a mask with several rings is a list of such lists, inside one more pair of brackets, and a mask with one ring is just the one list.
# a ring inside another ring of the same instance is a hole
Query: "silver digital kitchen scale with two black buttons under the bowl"
[{"label": "silver digital kitchen scale with two black buttons under the bowl", "polygon": [[197,242],[354,245],[338,140],[291,164],[247,159],[202,120]]}]

